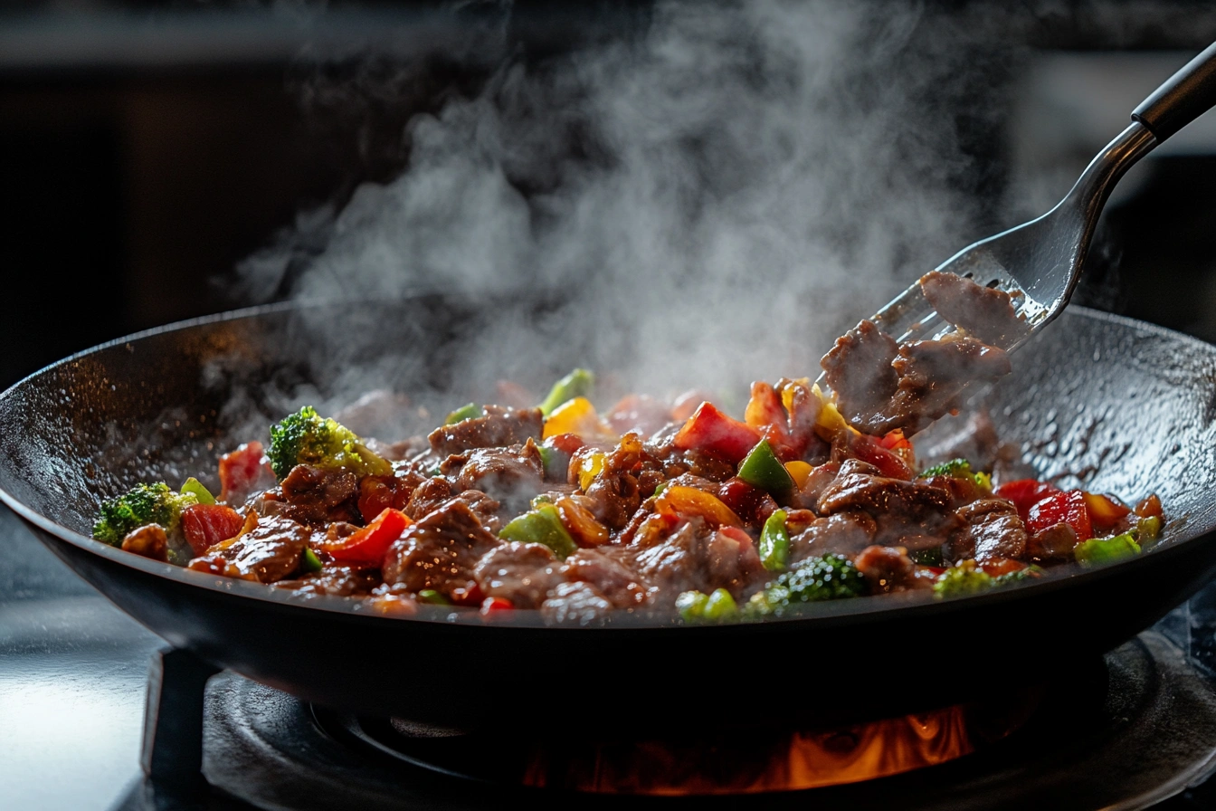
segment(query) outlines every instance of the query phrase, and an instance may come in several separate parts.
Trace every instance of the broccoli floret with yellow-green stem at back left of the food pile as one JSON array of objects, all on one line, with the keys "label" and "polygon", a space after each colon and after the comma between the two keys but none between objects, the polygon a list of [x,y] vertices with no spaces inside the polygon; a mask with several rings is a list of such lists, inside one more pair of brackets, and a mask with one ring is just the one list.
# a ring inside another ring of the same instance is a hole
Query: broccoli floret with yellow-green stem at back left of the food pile
[{"label": "broccoli floret with yellow-green stem at back left of the food pile", "polygon": [[355,475],[392,475],[393,466],[334,419],[304,406],[270,428],[270,467],[280,479],[297,464],[345,468]]}]

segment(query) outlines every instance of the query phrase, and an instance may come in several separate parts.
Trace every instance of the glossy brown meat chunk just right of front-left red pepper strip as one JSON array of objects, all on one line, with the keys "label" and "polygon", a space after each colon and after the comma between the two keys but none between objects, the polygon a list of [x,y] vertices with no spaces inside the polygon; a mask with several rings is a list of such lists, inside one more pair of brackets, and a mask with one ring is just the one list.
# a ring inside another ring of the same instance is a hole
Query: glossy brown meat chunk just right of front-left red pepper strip
[{"label": "glossy brown meat chunk just right of front-left red pepper strip", "polygon": [[393,541],[384,554],[384,582],[451,595],[473,580],[478,559],[500,544],[467,503],[452,499]]}]

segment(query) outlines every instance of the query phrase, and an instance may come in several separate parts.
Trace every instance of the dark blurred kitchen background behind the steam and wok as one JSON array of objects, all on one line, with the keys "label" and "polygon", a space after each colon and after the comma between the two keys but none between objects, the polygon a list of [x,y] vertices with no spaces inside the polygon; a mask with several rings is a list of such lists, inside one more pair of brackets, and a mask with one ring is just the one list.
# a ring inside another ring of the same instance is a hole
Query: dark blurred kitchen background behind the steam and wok
[{"label": "dark blurred kitchen background behind the steam and wok", "polygon": [[[991,4],[957,111],[974,237],[1059,198],[1143,95],[1216,39],[1216,5]],[[877,4],[878,9],[882,4]],[[984,4],[925,4],[935,16]],[[16,1],[0,10],[0,387],[136,330],[244,303],[232,269],[302,212],[406,164],[406,122],[505,56],[630,36],[646,2]],[[507,35],[483,36],[483,30]],[[978,114],[983,111],[984,114]],[[961,246],[942,244],[946,258]],[[1216,117],[1108,205],[1080,300],[1216,339]],[[872,305],[880,303],[877,297]],[[872,309],[872,308],[867,308]],[[858,311],[860,314],[860,311]]]}]

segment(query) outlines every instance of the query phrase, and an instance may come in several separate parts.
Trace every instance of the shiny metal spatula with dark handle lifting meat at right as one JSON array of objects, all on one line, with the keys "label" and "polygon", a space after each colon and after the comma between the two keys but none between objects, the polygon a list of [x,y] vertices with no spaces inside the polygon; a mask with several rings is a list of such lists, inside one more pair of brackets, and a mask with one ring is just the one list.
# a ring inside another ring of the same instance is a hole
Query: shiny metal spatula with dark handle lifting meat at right
[{"label": "shiny metal spatula with dark handle lifting meat at right", "polygon": [[[1015,297],[1025,330],[998,342],[1002,349],[1017,349],[1068,304],[1098,215],[1124,173],[1214,105],[1216,43],[1141,102],[1131,125],[1098,153],[1055,208],[963,248],[938,267]],[[938,338],[952,330],[925,299],[919,282],[871,320],[901,343]]]}]

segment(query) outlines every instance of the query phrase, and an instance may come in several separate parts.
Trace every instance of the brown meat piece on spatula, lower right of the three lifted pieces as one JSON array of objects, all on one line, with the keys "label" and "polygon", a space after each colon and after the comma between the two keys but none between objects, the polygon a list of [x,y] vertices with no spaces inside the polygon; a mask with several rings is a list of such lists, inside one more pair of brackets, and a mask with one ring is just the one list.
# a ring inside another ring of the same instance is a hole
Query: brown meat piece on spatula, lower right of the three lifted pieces
[{"label": "brown meat piece on spatula, lower right of the three lifted pieces", "polygon": [[1004,350],[955,334],[902,344],[893,367],[899,387],[884,410],[882,432],[903,428],[908,434],[956,409],[958,387],[970,381],[996,382],[1012,371]]}]

